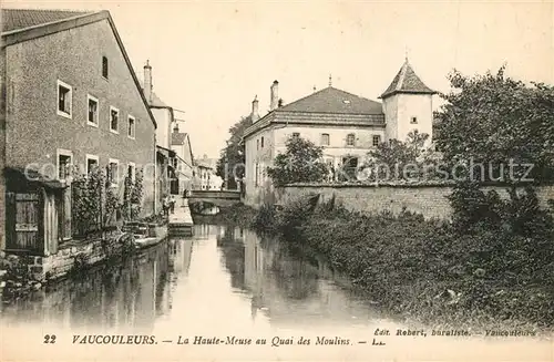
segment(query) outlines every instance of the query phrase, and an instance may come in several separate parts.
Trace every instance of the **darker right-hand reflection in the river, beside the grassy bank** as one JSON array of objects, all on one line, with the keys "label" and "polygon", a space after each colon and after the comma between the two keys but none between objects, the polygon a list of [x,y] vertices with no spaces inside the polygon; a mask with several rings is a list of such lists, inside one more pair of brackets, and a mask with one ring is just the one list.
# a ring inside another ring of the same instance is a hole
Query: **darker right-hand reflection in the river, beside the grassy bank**
[{"label": "darker right-hand reflection in the river, beside the grassy bank", "polygon": [[261,311],[271,323],[332,323],[368,318],[367,308],[328,279],[332,272],[317,260],[290,256],[278,240],[244,237],[245,289],[252,292],[253,318]]}]

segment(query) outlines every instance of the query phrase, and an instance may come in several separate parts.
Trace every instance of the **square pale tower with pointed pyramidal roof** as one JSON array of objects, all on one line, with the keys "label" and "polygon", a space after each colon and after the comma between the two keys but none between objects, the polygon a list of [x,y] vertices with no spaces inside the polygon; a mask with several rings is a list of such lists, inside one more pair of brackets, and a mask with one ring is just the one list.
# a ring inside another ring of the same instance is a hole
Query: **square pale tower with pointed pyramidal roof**
[{"label": "square pale tower with pointed pyramidal roof", "polygon": [[416,74],[408,56],[397,73],[392,83],[381,94],[384,121],[386,141],[406,141],[411,131],[429,134],[429,143],[433,136],[433,94]]}]

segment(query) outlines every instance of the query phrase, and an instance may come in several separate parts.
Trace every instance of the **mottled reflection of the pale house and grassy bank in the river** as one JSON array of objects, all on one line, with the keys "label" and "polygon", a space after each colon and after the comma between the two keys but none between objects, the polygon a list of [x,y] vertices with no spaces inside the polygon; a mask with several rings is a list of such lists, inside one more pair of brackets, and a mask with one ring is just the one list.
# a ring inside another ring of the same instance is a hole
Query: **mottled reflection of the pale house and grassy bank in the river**
[{"label": "mottled reflection of the pale house and grassy bank in the river", "polygon": [[240,228],[217,238],[234,288],[252,294],[252,317],[267,316],[271,324],[343,325],[373,319],[363,299],[348,292],[346,278],[321,260],[294,255],[286,244],[260,239]]}]

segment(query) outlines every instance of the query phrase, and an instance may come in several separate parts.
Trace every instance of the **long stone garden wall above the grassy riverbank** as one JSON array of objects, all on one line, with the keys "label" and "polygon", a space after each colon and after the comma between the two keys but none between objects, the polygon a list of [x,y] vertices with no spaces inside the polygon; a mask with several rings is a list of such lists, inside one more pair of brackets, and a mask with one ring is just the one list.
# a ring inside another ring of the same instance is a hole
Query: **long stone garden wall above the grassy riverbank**
[{"label": "long stone garden wall above the grassy riverbank", "polygon": [[[496,190],[501,198],[509,198],[506,186],[484,186],[485,193]],[[450,185],[432,184],[295,184],[276,189],[277,204],[284,205],[299,196],[317,193],[319,201],[326,201],[334,196],[339,205],[347,210],[360,213],[381,213],[383,210],[398,215],[406,208],[411,213],[423,215],[425,219],[449,219],[452,207],[447,198],[452,194]],[[554,186],[536,187],[536,194],[542,207],[547,207],[547,200],[554,199]]]}]

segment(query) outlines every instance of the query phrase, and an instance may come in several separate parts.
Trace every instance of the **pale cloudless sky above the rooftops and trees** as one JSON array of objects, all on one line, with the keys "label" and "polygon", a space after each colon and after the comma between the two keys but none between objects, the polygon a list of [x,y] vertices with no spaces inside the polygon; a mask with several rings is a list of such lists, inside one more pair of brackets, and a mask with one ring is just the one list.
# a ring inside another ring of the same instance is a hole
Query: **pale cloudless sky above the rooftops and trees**
[{"label": "pale cloudless sky above the rooftops and trees", "polygon": [[[109,10],[138,77],[185,111],[195,157],[217,157],[228,128],[269,107],[332,86],[371,100],[406,55],[423,82],[448,92],[453,69],[554,84],[553,1],[23,1],[7,8]],[[435,96],[434,107],[440,106]]]}]

